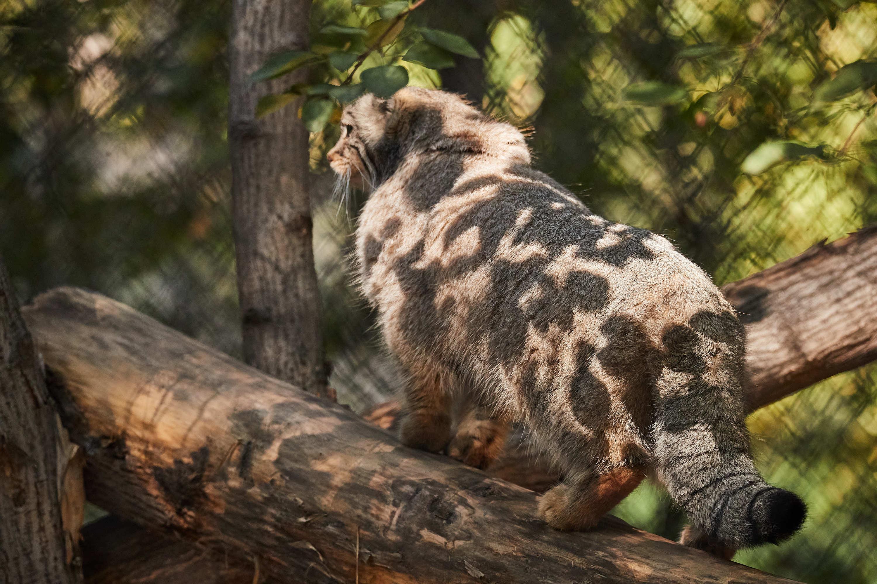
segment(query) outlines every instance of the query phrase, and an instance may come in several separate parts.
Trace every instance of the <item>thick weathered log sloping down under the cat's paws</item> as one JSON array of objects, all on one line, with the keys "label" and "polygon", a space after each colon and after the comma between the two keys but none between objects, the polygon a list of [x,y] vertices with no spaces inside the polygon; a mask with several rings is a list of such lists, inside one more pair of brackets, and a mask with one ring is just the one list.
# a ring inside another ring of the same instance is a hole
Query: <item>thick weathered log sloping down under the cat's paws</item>
[{"label": "thick weathered log sloping down under the cat's paws", "polygon": [[308,582],[781,582],[607,518],[562,533],[529,490],[402,447],[346,408],[72,288],[25,311],[89,500]]}]

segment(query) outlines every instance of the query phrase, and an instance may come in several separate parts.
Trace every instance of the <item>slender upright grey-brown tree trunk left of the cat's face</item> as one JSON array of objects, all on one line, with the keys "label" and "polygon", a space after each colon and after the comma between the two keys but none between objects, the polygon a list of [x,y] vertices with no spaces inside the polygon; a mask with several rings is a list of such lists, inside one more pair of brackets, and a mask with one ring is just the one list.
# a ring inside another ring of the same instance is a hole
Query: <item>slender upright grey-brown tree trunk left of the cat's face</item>
[{"label": "slender upright grey-brown tree trunk left of the cat's face", "polygon": [[304,81],[250,75],[273,53],[308,47],[310,0],[234,0],[229,44],[232,215],[244,360],[326,395],[320,298],[312,250],[308,131],[298,102],[255,117],[260,96]]}]

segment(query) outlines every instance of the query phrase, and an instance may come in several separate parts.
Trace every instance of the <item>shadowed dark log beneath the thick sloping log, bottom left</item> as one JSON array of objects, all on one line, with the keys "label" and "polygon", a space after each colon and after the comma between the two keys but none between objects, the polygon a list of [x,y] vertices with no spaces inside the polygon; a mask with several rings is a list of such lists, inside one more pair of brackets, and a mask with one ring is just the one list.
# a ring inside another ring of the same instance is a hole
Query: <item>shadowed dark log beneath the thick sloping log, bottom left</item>
[{"label": "shadowed dark log beneath the thick sloping log, bottom left", "polygon": [[277,582],[265,578],[254,559],[233,552],[221,545],[216,549],[168,537],[112,516],[82,529],[85,584]]}]

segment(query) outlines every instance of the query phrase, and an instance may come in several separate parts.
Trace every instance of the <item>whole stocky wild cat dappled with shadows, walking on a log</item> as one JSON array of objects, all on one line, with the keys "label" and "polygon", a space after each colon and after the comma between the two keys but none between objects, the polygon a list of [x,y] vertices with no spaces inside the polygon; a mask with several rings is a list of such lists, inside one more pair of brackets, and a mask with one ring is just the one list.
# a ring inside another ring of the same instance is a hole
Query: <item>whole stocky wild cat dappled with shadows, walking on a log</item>
[{"label": "whole stocky wild cat dappled with shadows, walking on a log", "polygon": [[408,375],[405,444],[484,467],[524,422],[564,471],[539,507],[559,529],[649,474],[688,511],[688,545],[727,556],[799,528],[801,500],[749,454],[744,329],[667,239],[591,213],[456,95],[364,95],[341,123],[332,167],[374,186],[357,259]]}]

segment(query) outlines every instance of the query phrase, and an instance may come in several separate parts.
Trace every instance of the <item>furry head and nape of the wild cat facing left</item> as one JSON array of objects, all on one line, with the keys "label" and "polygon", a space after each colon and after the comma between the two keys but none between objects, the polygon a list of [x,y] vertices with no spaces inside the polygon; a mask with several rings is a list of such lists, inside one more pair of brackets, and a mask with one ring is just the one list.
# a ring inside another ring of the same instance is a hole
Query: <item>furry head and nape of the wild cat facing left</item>
[{"label": "furry head and nape of the wild cat facing left", "polygon": [[341,115],[341,137],[329,151],[332,170],[353,186],[378,186],[406,157],[424,152],[483,154],[529,163],[524,136],[437,89],[403,88],[389,99],[362,95]]}]

